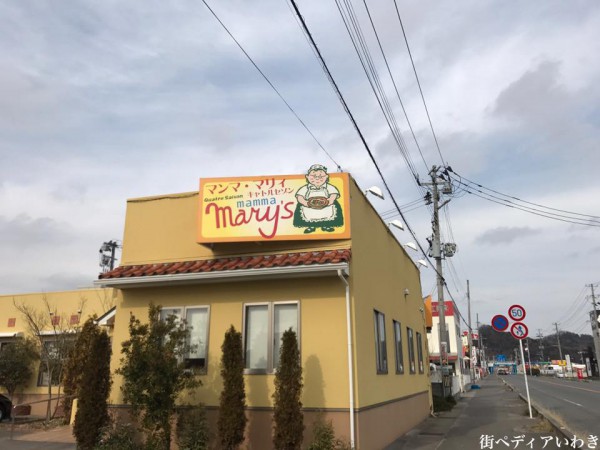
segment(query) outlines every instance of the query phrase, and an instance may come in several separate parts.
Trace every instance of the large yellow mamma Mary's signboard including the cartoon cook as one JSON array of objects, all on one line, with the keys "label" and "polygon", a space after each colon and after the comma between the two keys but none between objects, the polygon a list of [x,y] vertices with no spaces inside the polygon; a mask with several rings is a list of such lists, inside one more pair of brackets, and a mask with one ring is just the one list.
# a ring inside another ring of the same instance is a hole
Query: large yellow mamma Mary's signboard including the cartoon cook
[{"label": "large yellow mamma Mary's signboard including the cartoon cook", "polygon": [[347,239],[348,174],[315,164],[305,175],[200,180],[198,242]]}]

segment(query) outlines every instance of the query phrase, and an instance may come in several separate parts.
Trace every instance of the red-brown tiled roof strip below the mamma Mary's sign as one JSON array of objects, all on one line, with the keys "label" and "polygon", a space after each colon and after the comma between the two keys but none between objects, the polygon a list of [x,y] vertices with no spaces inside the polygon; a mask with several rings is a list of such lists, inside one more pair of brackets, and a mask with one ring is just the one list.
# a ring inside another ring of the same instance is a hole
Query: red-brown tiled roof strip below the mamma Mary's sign
[{"label": "red-brown tiled roof strip below the mamma Mary's sign", "polygon": [[342,249],[121,266],[111,270],[110,272],[100,274],[99,278],[114,279],[127,277],[151,277],[155,275],[173,275],[181,273],[202,273],[238,269],[264,269],[285,266],[336,264],[349,262],[350,254],[350,249]]}]

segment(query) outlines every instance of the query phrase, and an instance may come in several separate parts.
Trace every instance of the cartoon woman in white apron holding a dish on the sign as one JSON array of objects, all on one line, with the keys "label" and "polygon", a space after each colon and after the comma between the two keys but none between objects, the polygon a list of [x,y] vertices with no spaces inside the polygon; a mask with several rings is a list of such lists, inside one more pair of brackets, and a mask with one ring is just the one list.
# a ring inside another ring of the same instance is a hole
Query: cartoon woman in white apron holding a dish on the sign
[{"label": "cartoon woman in white apron holding a dish on the sign", "polygon": [[304,234],[314,233],[317,228],[331,233],[344,225],[344,215],[338,203],[340,191],[328,184],[327,168],[313,164],[306,173],[308,182],[296,192],[298,204],[294,211],[294,226],[305,228]]}]

